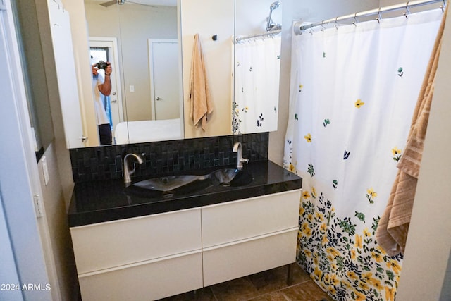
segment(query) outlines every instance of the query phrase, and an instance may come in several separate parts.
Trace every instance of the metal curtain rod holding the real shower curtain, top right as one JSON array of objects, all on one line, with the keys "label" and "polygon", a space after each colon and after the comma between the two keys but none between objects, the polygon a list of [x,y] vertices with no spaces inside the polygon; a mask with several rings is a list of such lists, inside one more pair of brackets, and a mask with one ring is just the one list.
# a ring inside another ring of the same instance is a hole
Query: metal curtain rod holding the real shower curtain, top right
[{"label": "metal curtain rod holding the real shower curtain, top right", "polygon": [[300,22],[297,22],[294,25],[295,33],[296,33],[296,35],[299,35],[299,34],[302,34],[302,32],[304,30],[308,30],[310,28],[325,25],[328,23],[338,23],[338,21],[342,21],[342,20],[354,19],[355,23],[357,23],[358,22],[357,18],[366,17],[366,16],[378,15],[377,20],[381,20],[381,18],[382,18],[381,13],[387,13],[388,11],[397,11],[397,10],[404,8],[408,14],[408,13],[410,13],[409,8],[416,7],[416,6],[423,6],[423,5],[427,5],[427,4],[434,4],[437,2],[443,2],[443,6],[442,6],[442,10],[443,10],[443,8],[446,6],[445,0],[417,0],[417,1],[407,1],[405,4],[395,4],[392,6],[385,6],[382,8],[372,9],[370,11],[362,11],[361,13],[354,13],[352,15],[346,15],[346,16],[341,16],[341,17],[337,17],[337,18],[333,18],[333,19],[323,20],[321,22],[311,23],[309,25],[301,25]]}]

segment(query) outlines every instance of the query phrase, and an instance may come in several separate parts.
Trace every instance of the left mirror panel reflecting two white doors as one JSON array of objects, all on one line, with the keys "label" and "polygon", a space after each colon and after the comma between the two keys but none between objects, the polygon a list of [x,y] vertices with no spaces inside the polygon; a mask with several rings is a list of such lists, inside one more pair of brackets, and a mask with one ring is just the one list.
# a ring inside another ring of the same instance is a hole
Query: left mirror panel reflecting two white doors
[{"label": "left mirror panel reflecting two white doors", "polygon": [[84,2],[91,63],[113,68],[102,99],[113,143],[183,138],[177,1]]}]

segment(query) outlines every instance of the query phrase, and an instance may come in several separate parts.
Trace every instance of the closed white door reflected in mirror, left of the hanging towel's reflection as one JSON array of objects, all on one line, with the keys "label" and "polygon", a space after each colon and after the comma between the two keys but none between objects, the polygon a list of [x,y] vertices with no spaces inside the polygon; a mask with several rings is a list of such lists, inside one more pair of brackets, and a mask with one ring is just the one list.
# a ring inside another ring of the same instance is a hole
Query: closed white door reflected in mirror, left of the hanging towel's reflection
[{"label": "closed white door reflected in mirror, left of the hanging towel's reflection", "polygon": [[180,118],[177,39],[149,39],[149,69],[152,118]]}]

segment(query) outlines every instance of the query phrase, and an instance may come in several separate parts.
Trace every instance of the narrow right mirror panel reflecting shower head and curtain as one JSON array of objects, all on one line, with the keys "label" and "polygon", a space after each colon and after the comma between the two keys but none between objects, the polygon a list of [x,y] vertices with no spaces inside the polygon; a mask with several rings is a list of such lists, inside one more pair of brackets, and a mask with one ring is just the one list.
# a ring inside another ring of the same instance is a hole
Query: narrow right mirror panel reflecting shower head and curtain
[{"label": "narrow right mirror panel reflecting shower head and curtain", "polygon": [[282,1],[236,1],[234,134],[277,130],[281,6]]}]

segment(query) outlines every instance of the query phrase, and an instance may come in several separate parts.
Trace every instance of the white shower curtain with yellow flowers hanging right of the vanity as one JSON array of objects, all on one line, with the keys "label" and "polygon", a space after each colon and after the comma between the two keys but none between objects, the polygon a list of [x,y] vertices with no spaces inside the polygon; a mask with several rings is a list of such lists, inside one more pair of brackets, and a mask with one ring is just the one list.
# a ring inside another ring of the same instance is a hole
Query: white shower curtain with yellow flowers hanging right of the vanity
[{"label": "white shower curtain with yellow flowers hanging right of the vanity", "polygon": [[285,168],[302,176],[298,263],[335,300],[394,300],[375,235],[441,10],[294,35]]}]

